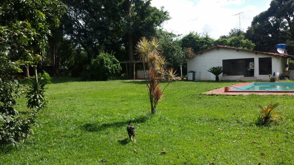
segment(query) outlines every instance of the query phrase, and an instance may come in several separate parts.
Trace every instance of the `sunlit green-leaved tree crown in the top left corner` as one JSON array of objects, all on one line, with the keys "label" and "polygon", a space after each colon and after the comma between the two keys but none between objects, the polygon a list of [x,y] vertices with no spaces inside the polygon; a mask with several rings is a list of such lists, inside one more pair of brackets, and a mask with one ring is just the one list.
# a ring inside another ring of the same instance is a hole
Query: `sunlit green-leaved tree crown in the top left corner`
[{"label": "sunlit green-leaved tree crown in the top left corner", "polygon": [[[59,25],[59,18],[64,13],[64,9],[64,4],[58,0],[2,1],[0,24],[10,28],[25,22],[27,24],[25,33],[30,36],[27,44],[20,48],[22,51],[17,55],[14,54],[14,60],[32,61],[38,55],[44,57],[48,36],[51,34],[50,27]],[[26,68],[28,69],[28,64]]]}]

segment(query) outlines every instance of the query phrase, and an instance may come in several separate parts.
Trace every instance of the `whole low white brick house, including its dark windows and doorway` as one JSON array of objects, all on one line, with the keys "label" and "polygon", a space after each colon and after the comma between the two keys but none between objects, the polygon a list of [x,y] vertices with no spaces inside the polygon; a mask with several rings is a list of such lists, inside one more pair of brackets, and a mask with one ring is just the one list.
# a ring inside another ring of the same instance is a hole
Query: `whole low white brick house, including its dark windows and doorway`
[{"label": "whole low white brick house, including its dark windows and doorway", "polygon": [[187,61],[187,70],[195,71],[195,80],[215,80],[207,70],[222,66],[220,80],[269,80],[269,74],[279,77],[288,70],[288,55],[258,52],[228,46],[214,46],[196,53]]}]

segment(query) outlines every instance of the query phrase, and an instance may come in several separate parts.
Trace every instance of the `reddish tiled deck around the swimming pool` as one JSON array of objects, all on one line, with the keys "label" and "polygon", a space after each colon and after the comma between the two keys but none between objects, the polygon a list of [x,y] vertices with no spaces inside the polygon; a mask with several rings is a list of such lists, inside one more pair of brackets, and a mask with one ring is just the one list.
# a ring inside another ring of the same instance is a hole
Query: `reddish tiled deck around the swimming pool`
[{"label": "reddish tiled deck around the swimming pool", "polygon": [[[249,84],[252,84],[252,83],[239,83],[239,84],[235,84],[232,86],[240,88],[240,87],[244,87]],[[219,88],[216,90],[204,92],[203,94],[207,94],[207,95],[213,95],[213,94],[214,95],[249,95],[249,94],[255,94],[255,95],[294,95],[294,92],[283,92],[283,91],[270,91],[270,92],[268,92],[268,91],[262,91],[262,90],[258,90],[258,91],[256,90],[256,91],[250,91],[250,92],[247,92],[247,91],[225,92],[225,87],[223,87],[223,88]]]}]

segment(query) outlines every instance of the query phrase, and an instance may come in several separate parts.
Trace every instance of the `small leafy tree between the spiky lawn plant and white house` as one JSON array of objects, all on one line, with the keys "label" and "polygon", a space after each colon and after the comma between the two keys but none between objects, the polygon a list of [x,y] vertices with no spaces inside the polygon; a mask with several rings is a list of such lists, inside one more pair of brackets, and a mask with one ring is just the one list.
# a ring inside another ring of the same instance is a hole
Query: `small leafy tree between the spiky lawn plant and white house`
[{"label": "small leafy tree between the spiky lawn plant and white house", "polygon": [[156,32],[156,37],[161,42],[161,55],[166,58],[166,61],[171,65],[171,67],[181,67],[187,58],[185,57],[184,51],[181,47],[181,40],[178,38],[179,35],[159,29]]}]

